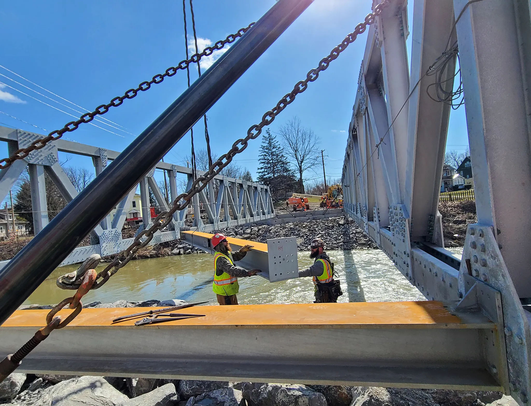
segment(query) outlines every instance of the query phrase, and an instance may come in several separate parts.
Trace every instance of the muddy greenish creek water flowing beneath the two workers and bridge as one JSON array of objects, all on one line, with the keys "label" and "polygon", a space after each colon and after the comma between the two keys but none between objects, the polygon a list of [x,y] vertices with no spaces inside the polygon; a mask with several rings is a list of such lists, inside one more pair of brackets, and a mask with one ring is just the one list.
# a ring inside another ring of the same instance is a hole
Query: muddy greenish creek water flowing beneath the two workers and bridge
[{"label": "muddy greenish creek water flowing beneath the two workers and bridge", "polygon": [[[456,253],[460,254],[458,251]],[[335,263],[335,277],[341,281],[344,292],[338,300],[340,302],[424,300],[424,296],[402,276],[381,250],[329,250],[328,255]],[[312,264],[309,252],[298,252],[298,263],[299,267]],[[71,292],[59,289],[55,281],[60,275],[75,270],[78,265],[56,269],[24,305],[56,304],[69,296]],[[98,271],[105,265],[98,266]],[[190,302],[210,300],[213,305],[217,303],[212,292],[212,279],[213,256],[210,254],[136,260],[119,270],[105,286],[87,293],[83,302],[184,299]],[[251,277],[239,279],[239,284],[238,301],[243,305],[311,303],[314,300],[311,278],[270,283],[261,277]]]}]

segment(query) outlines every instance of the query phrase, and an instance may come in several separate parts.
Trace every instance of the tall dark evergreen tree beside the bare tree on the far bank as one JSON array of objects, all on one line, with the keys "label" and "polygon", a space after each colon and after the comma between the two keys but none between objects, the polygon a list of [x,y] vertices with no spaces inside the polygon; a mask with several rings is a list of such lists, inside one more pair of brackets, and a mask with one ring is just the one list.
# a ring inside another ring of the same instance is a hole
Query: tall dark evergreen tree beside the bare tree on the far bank
[{"label": "tall dark evergreen tree beside the bare tree on the far bank", "polygon": [[271,193],[275,197],[284,197],[293,191],[295,177],[293,170],[289,167],[289,162],[282,152],[275,135],[268,129],[260,145],[259,155],[260,166],[257,182],[268,185]]}]

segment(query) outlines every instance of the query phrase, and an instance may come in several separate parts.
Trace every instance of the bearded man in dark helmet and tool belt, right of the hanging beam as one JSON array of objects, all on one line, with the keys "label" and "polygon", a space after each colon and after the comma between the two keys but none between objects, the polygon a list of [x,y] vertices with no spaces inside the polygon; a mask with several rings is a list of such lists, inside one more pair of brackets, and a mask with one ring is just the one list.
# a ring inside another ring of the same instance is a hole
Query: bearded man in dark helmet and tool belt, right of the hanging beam
[{"label": "bearded man in dark helmet and tool belt, right of the hanging beam", "polygon": [[324,243],[320,238],[314,238],[310,245],[310,258],[314,258],[312,266],[299,270],[299,278],[313,277],[315,287],[314,303],[336,303],[343,294],[338,280],[333,279],[333,262],[324,252]]}]

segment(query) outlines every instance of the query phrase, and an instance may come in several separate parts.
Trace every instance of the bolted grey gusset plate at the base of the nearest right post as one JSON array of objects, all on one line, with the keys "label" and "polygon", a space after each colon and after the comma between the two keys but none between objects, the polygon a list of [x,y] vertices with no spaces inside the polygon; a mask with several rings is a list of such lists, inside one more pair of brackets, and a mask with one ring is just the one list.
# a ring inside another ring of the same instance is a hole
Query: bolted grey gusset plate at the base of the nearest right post
[{"label": "bolted grey gusset plate at the base of the nearest right post", "polygon": [[509,390],[520,404],[528,405],[531,393],[531,336],[526,310],[512,283],[509,271],[491,226],[469,224],[459,269],[459,292],[467,291],[469,274],[466,260],[472,265],[472,277],[499,291],[502,301],[503,331],[507,348]]}]

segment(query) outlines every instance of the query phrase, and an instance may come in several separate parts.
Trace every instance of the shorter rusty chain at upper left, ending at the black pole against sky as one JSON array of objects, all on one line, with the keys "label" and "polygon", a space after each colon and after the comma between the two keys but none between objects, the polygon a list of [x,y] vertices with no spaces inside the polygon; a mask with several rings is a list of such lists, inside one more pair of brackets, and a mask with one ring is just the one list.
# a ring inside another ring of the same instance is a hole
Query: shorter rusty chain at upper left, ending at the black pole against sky
[{"label": "shorter rusty chain at upper left, ending at the black pole against sky", "polygon": [[230,34],[229,36],[227,36],[227,38],[223,40],[219,40],[213,46],[206,47],[205,49],[203,49],[203,51],[200,54],[193,54],[189,59],[185,59],[184,61],[179,62],[177,66],[172,66],[172,67],[167,68],[166,72],[162,74],[159,73],[153,76],[153,78],[149,82],[147,81],[147,82],[140,83],[138,85],[138,88],[127,90],[124,93],[124,96],[115,97],[108,104],[98,106],[91,113],[85,113],[78,120],[67,123],[65,124],[63,128],[52,131],[46,137],[33,141],[31,145],[28,146],[27,148],[21,148],[15,151],[11,157],[0,159],[0,169],[8,168],[11,166],[11,164],[14,161],[18,159],[24,159],[25,157],[27,157],[30,152],[44,148],[48,142],[58,140],[59,138],[63,136],[64,133],[71,132],[71,131],[74,131],[75,129],[78,129],[80,124],[90,123],[94,119],[94,117],[101,116],[107,113],[107,111],[109,111],[109,108],[118,107],[124,102],[125,99],[134,98],[138,94],[138,92],[140,91],[145,92],[146,90],[151,88],[152,84],[158,84],[162,82],[165,77],[170,77],[170,76],[175,75],[177,71],[186,69],[188,65],[190,65],[191,63],[198,63],[203,56],[212,55],[212,53],[215,50],[222,49],[226,44],[232,44],[232,42],[236,41],[236,39],[238,39],[245,32],[247,32],[247,30],[249,30],[253,24],[254,22],[249,24],[245,28],[239,29],[238,32],[236,32],[235,34]]}]

